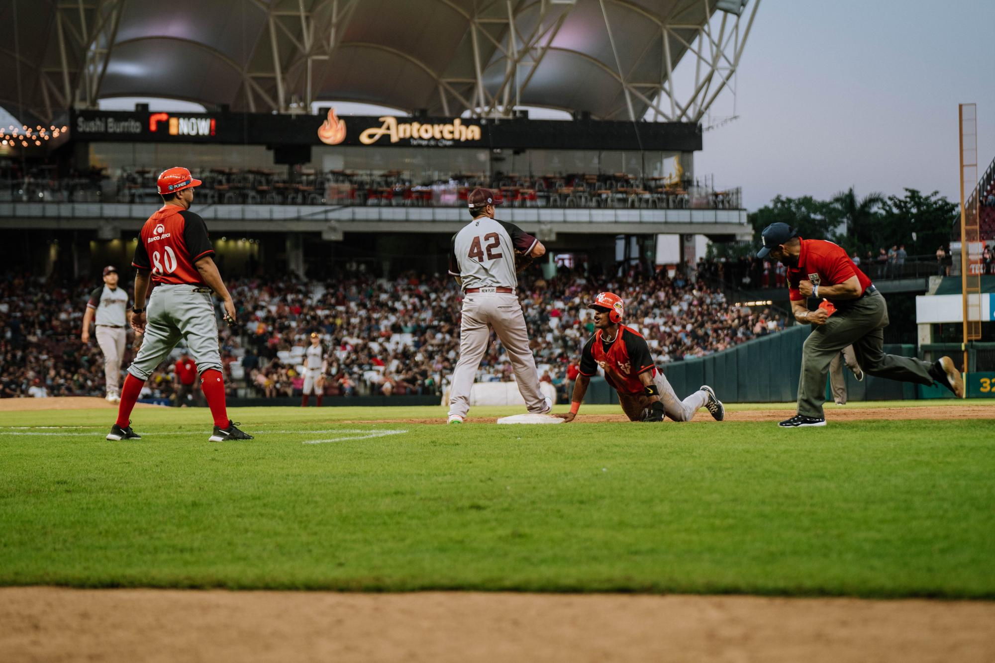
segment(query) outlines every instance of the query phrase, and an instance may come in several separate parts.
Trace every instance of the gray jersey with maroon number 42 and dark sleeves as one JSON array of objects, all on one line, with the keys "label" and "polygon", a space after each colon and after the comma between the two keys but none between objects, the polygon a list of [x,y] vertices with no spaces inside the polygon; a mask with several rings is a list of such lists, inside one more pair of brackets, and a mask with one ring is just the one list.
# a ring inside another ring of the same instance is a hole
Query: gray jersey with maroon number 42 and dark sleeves
[{"label": "gray jersey with maroon number 42 and dark sleeves", "polygon": [[468,288],[517,288],[514,251],[528,253],[534,237],[513,223],[487,216],[474,219],[453,235],[449,273]]}]

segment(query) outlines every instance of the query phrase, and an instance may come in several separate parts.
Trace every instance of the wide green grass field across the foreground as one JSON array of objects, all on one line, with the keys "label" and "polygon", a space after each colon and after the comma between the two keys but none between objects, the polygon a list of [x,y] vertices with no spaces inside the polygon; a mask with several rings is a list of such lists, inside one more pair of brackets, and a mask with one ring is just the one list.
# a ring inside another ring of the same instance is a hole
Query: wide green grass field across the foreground
[{"label": "wide green grass field across the foreground", "polygon": [[995,407],[804,430],[383,421],[444,412],[243,408],[257,439],[221,444],[206,409],[136,410],[137,442],[103,440],[109,410],[0,413],[0,584],[995,598]]}]

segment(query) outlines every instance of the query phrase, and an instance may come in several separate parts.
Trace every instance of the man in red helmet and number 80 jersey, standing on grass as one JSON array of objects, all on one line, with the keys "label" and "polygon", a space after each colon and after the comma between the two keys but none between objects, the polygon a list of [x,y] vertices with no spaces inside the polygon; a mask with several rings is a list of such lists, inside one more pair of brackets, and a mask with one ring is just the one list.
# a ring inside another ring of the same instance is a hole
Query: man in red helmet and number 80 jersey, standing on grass
[{"label": "man in red helmet and number 80 jersey, standing on grass", "polygon": [[[199,215],[189,211],[193,187],[200,183],[186,168],[164,170],[156,182],[164,204],[141,227],[131,261],[131,266],[137,269],[131,327],[145,336],[138,355],[127,369],[117,421],[107,433],[108,440],[141,439],[131,430],[128,417],[145,380],[180,338],[186,339],[197,364],[201,390],[214,417],[214,433],[208,440],[253,439],[228,418],[225,405],[212,291],[221,297],[229,325],[235,323],[235,305],[211,257],[214,249],[207,226]],[[150,277],[155,289],[148,298],[146,312]]]}]

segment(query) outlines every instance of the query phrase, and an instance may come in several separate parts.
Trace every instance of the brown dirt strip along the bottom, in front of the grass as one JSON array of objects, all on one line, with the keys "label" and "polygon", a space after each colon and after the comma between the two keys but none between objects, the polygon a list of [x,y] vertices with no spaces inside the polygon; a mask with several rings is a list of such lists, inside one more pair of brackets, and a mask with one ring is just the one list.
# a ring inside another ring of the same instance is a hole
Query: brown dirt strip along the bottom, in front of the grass
[{"label": "brown dirt strip along the bottom, in front of the grass", "polygon": [[0,588],[3,661],[992,661],[995,603]]}]

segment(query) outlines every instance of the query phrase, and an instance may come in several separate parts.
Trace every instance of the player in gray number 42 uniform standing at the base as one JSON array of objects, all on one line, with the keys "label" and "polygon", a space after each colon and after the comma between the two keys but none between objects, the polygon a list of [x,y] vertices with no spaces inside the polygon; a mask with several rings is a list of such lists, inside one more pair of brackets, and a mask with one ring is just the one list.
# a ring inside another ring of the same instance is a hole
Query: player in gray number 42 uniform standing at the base
[{"label": "player in gray number 42 uniform standing at the base", "polygon": [[533,258],[546,250],[539,240],[513,223],[495,218],[500,194],[490,189],[474,189],[468,198],[474,217],[453,236],[449,273],[463,288],[463,322],[460,324],[460,360],[453,371],[449,399],[449,423],[462,424],[470,411],[470,390],[477,368],[491,340],[497,333],[514,368],[518,391],[529,412],[545,414],[552,402],[539,390],[535,358],[528,346],[525,317],[515,295],[515,250],[524,269]]}]

